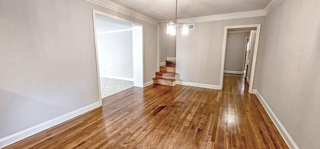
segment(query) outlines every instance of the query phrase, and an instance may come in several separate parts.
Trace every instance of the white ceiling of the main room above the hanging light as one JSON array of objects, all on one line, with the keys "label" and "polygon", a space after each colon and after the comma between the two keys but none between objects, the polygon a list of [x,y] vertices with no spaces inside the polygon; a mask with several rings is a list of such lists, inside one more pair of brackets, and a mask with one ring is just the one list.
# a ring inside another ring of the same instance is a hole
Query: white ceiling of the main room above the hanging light
[{"label": "white ceiling of the main room above the hanging light", "polygon": [[[175,19],[175,0],[110,0],[158,21]],[[177,0],[177,18],[263,9],[271,0]]]}]

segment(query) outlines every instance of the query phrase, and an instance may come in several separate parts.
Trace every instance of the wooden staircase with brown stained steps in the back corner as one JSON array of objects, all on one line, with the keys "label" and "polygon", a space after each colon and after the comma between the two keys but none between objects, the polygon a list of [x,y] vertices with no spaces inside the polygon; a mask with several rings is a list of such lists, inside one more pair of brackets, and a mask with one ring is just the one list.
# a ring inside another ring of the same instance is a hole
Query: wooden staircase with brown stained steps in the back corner
[{"label": "wooden staircase with brown stained steps in the back corner", "polygon": [[160,66],[160,72],[155,72],[155,78],[153,78],[153,84],[174,86],[175,80],[175,61],[166,60],[166,65]]}]

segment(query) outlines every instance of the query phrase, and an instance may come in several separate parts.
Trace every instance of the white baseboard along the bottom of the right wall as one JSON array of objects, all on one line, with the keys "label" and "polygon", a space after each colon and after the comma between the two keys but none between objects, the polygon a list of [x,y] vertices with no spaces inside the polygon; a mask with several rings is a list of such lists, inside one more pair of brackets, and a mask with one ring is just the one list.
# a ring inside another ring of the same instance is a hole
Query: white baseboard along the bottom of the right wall
[{"label": "white baseboard along the bottom of the right wall", "polygon": [[254,90],[255,96],[259,99],[260,103],[262,104],[263,108],[265,109],[266,113],[271,118],[273,124],[275,125],[276,129],[279,131],[281,137],[283,138],[284,142],[288,146],[289,149],[299,149],[298,146],[295,144],[289,133],[285,130],[281,122],[278,120],[278,118],[275,116],[275,114],[272,112],[269,105],[265,102],[263,97],[259,94],[257,90]]}]

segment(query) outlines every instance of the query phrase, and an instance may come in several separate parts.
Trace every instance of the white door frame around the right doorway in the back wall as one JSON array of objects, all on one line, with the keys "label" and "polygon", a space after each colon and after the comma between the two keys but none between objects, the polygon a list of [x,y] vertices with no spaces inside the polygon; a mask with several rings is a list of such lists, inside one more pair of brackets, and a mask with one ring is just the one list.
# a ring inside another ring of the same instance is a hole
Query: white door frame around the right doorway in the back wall
[{"label": "white door frame around the right doorway in the back wall", "polygon": [[255,36],[255,44],[253,49],[253,58],[252,58],[252,68],[251,68],[251,76],[250,76],[250,83],[249,83],[249,93],[254,94],[252,91],[253,82],[254,82],[254,72],[255,72],[255,64],[256,64],[256,57],[258,53],[258,45],[259,45],[259,38],[260,38],[260,30],[261,24],[248,24],[248,25],[235,25],[235,26],[225,26],[224,27],[224,39],[223,39],[223,50],[222,50],[222,63],[221,63],[221,73],[220,73],[220,89],[223,87],[223,70],[224,70],[224,59],[225,59],[225,47],[226,47],[226,37],[228,29],[232,28],[249,28],[249,27],[256,27],[256,36]]}]

